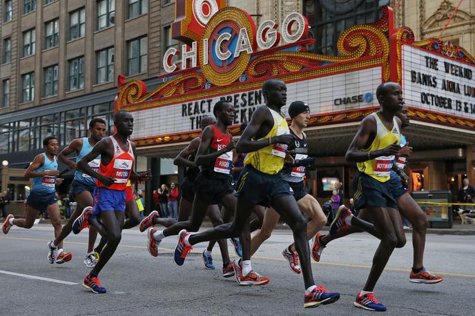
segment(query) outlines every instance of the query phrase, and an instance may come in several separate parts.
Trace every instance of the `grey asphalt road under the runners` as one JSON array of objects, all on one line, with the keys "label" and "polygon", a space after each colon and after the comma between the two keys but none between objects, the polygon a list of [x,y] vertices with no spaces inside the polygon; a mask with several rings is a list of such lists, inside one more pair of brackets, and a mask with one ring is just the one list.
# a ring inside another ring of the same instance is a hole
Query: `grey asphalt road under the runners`
[{"label": "grey asphalt road under the runners", "polygon": [[[216,246],[216,270],[205,270],[197,245],[184,266],[173,261],[175,237],[164,239],[159,257],[146,251],[146,235],[124,231],[122,243],[100,275],[108,293],[97,295],[79,284],[88,273],[83,259],[87,234],[71,235],[65,243],[73,253],[70,262],[50,265],[46,242],[49,225],[31,230],[14,227],[0,236],[0,315],[367,315],[353,307],[365,284],[378,241],[358,234],[333,241],[322,262],[313,262],[317,285],[338,291],[338,302],[303,308],[302,276],[291,273],[280,254],[292,236],[275,232],[253,258],[253,268],[271,278],[266,286],[237,286],[221,274]],[[397,249],[376,286],[375,295],[387,305],[387,315],[475,315],[474,236],[429,235],[425,266],[443,275],[440,284],[411,284],[411,236]],[[230,253],[233,254],[230,244]],[[17,273],[14,275],[12,273]],[[32,279],[31,277],[35,277]],[[38,278],[39,277],[39,278]],[[41,279],[47,278],[47,279]]]}]

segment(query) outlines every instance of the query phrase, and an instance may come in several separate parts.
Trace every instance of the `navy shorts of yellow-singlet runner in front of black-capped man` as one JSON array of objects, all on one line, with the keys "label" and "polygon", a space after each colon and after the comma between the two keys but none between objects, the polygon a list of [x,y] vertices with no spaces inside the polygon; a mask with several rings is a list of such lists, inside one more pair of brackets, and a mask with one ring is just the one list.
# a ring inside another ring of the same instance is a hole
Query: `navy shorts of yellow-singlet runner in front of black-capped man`
[{"label": "navy shorts of yellow-singlet runner in front of black-capped man", "polygon": [[242,170],[236,191],[236,197],[246,199],[250,204],[266,207],[271,206],[273,200],[278,197],[292,195],[289,184],[279,173],[269,175],[251,165]]}]

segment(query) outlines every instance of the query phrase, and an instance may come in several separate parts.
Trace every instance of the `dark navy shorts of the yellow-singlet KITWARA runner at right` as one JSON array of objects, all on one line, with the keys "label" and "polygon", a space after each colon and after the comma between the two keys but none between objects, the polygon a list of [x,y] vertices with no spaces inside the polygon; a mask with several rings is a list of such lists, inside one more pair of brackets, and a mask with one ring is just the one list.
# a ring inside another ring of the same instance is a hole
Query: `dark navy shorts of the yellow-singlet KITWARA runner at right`
[{"label": "dark navy shorts of the yellow-singlet KITWARA runner at right", "polygon": [[380,182],[357,171],[353,179],[353,192],[356,210],[368,206],[398,209],[394,192],[391,191],[391,186],[389,186],[389,180]]}]

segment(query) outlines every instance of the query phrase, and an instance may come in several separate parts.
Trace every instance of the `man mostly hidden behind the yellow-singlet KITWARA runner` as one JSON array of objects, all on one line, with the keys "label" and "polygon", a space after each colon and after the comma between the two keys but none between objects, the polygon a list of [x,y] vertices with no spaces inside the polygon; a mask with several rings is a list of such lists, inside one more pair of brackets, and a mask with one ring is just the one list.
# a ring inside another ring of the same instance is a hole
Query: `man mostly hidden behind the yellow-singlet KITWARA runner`
[{"label": "man mostly hidden behind the yellow-singlet KITWARA runner", "polygon": [[[396,116],[401,120],[403,124],[402,128],[409,126],[409,110],[407,109],[407,106],[404,106],[402,110],[398,110]],[[408,146],[404,135],[401,135],[400,146]],[[412,246],[414,248],[414,261],[411,268],[411,273],[409,274],[409,282],[436,284],[442,282],[443,277],[434,275],[424,268],[423,257],[425,247],[425,233],[427,230],[427,217],[416,201],[414,201],[411,195],[409,195],[409,192],[407,192],[408,178],[404,172],[405,165],[406,157],[400,156],[396,159],[396,164],[393,165],[393,169],[391,170],[389,186],[391,186],[391,192],[393,192],[394,198],[398,202],[400,213],[412,224]],[[403,186],[403,184],[405,184],[405,186]],[[365,217],[365,214],[367,213],[363,212],[361,217],[363,219],[369,220],[369,218]],[[313,250],[317,254],[316,261],[320,261],[322,250],[330,241],[351,233],[360,233],[362,231],[363,230],[357,228],[356,226],[351,226],[351,228],[345,230],[338,230],[336,235],[323,235],[322,237],[316,239],[316,242],[313,246]],[[372,233],[372,235],[376,235],[376,237],[379,238],[376,228],[374,228],[374,233]]]}]

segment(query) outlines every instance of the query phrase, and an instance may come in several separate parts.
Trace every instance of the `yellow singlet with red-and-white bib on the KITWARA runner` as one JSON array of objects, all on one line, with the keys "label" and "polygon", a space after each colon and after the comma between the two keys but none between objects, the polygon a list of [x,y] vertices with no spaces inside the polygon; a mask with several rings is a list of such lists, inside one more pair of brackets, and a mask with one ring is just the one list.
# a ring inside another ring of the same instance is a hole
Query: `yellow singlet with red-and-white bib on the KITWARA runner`
[{"label": "yellow singlet with red-and-white bib on the KITWARA runner", "polygon": [[[376,137],[374,137],[374,141],[371,143],[371,146],[362,151],[383,149],[391,144],[394,144],[395,141],[397,142],[396,144],[399,144],[400,131],[396,117],[393,119],[392,129],[388,130],[386,126],[382,124],[382,121],[376,112],[371,113],[371,115],[373,115],[376,119]],[[389,180],[389,172],[393,166],[394,158],[394,155],[380,156],[368,161],[358,162],[358,170],[380,182],[386,182]]]}]

